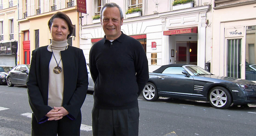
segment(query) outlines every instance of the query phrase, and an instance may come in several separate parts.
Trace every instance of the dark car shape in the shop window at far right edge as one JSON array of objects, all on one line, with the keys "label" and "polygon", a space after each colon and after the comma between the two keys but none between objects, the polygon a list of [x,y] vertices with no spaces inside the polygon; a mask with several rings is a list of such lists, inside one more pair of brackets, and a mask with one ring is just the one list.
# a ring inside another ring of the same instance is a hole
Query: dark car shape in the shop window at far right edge
[{"label": "dark car shape in the shop window at far right edge", "polygon": [[245,64],[245,79],[256,81],[256,64]]}]

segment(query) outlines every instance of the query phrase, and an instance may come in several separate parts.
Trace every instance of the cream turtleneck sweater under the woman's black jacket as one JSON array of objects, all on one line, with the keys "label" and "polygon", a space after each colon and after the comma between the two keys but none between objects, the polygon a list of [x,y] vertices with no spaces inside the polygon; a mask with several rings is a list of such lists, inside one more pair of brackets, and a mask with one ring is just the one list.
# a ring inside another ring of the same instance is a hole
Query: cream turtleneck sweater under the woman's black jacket
[{"label": "cream turtleneck sweater under the woman's black jacket", "polygon": [[[52,49],[51,49],[52,47]],[[60,107],[62,106],[63,102],[63,91],[64,91],[64,74],[63,74],[63,65],[61,59],[60,51],[65,50],[68,48],[68,40],[65,41],[55,41],[52,40],[52,44],[47,47],[47,50],[52,52],[52,58],[49,63],[49,87],[48,87],[48,106],[50,107]],[[61,67],[62,71],[59,74],[54,73],[53,69],[58,65]]]}]

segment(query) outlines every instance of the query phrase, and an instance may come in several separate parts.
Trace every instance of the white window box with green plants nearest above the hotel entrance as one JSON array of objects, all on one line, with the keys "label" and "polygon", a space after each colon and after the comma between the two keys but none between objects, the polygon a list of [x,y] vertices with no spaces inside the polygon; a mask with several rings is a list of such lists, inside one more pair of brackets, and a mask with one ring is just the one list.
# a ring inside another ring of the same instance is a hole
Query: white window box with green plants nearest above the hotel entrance
[{"label": "white window box with green plants nearest above the hotel entrance", "polygon": [[172,10],[194,7],[194,0],[175,0],[172,3]]}]

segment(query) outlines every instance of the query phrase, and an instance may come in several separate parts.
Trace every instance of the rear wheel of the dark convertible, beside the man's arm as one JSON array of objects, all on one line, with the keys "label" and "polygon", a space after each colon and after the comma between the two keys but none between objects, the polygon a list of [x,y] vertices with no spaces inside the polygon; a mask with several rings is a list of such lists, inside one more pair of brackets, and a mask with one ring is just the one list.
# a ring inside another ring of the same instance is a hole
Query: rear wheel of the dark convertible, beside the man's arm
[{"label": "rear wheel of the dark convertible, beside the man's arm", "polygon": [[147,83],[142,91],[143,98],[147,101],[155,101],[157,100],[157,88],[153,83]]}]

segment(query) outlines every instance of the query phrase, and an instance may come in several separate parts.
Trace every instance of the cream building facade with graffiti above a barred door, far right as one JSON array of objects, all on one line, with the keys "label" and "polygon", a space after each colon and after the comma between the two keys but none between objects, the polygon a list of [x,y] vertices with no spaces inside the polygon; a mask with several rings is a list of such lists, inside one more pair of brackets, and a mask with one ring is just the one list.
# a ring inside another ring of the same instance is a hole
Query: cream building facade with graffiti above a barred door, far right
[{"label": "cream building facade with graffiti above a barred door, far right", "polygon": [[215,0],[212,73],[256,81],[256,1]]}]

